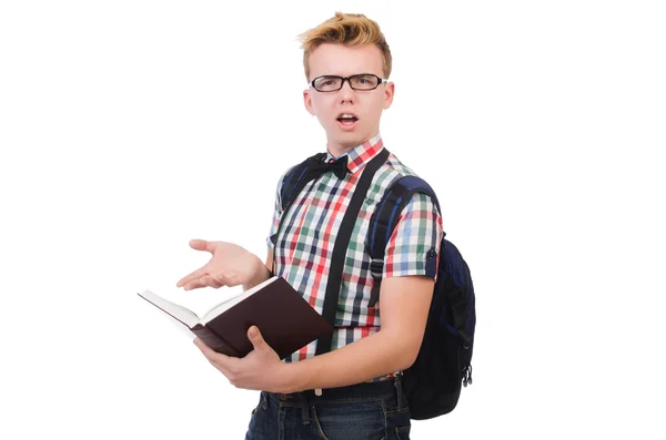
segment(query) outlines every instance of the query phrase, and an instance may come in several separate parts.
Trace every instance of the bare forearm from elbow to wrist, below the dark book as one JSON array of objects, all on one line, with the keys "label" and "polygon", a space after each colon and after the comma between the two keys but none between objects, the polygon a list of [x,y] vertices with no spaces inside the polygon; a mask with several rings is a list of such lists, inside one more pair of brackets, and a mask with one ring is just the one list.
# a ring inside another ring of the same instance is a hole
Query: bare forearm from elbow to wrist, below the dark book
[{"label": "bare forearm from elbow to wrist, below the dark book", "polygon": [[325,355],[287,364],[284,392],[361,383],[410,367],[415,352],[414,341],[379,331]]}]

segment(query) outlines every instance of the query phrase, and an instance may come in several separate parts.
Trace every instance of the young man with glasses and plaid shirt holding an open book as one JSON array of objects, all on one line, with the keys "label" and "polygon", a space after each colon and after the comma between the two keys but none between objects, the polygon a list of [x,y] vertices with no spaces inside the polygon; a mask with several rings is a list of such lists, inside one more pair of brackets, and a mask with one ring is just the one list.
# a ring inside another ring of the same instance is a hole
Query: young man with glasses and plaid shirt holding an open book
[{"label": "young man with glasses and plaid shirt holding an open book", "polygon": [[[251,288],[270,276],[275,263],[275,274],[322,313],[337,229],[365,165],[383,149],[380,120],[395,85],[386,80],[389,45],[377,23],[364,16],[336,13],[301,37],[305,109],[326,132],[327,158],[346,161],[346,174],[327,172],[310,182],[285,218],[281,177],[265,264],[231,243],[192,241],[194,249],[212,258],[178,283],[185,290]],[[442,239],[442,218],[427,196],[413,196],[386,247],[381,301],[373,307],[370,257],[362,245],[384,190],[406,174],[414,173],[390,155],[373,177],[345,257],[330,352],[314,356],[314,341],[281,361],[255,327],[248,332],[254,350],[242,359],[195,339],[234,386],[262,390],[246,439],[408,438],[400,371],[414,362],[423,338],[435,276],[426,260]]]}]

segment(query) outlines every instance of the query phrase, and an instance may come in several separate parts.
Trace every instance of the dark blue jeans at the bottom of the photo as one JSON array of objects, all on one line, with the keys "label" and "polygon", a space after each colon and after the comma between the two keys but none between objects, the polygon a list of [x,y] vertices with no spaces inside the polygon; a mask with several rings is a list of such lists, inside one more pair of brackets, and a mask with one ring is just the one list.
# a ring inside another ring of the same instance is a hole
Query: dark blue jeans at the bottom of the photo
[{"label": "dark blue jeans at the bottom of the photo", "polygon": [[408,440],[401,377],[381,382],[276,395],[262,391],[245,440]]}]

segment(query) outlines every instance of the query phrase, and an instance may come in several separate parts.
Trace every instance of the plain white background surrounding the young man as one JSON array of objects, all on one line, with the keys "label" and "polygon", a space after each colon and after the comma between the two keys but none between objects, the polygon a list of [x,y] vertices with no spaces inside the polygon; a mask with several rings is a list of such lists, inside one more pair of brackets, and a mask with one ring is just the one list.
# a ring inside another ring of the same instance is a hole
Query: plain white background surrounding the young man
[{"label": "plain white background surrounding the young man", "polygon": [[258,393],[137,291],[229,295],[175,288],[193,237],[264,257],[336,10],[382,25],[385,145],[476,287],[474,385],[412,438],[664,438],[662,2],[0,4],[1,438],[243,438]]}]

